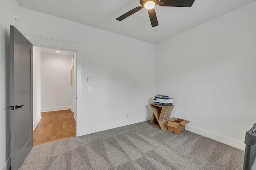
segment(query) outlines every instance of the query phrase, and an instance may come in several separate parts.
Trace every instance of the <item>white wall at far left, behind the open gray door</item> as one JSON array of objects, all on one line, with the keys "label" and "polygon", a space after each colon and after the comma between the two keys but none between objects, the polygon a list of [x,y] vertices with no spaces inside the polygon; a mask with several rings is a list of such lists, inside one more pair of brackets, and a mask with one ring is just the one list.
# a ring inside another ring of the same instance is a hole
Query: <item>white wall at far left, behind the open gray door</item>
[{"label": "white wall at far left, behind the open gray door", "polygon": [[10,25],[19,28],[16,0],[0,1],[0,170],[10,167]]}]

